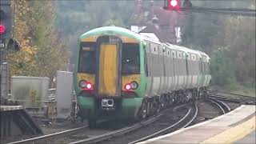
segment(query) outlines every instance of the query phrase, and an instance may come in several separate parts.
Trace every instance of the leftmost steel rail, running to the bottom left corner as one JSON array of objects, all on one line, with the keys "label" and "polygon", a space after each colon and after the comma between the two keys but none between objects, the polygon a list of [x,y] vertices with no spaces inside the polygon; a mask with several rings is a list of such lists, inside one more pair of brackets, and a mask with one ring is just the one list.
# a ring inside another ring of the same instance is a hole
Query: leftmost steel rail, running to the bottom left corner
[{"label": "leftmost steel rail, running to the bottom left corner", "polygon": [[39,142],[39,141],[42,141],[42,140],[46,140],[48,138],[54,138],[54,137],[59,137],[59,136],[63,137],[67,134],[78,133],[80,130],[84,130],[87,127],[88,126],[82,126],[82,127],[78,127],[78,128],[75,128],[75,129],[65,130],[65,131],[61,131],[61,132],[58,132],[58,133],[54,133],[54,134],[42,135],[40,137],[35,137],[35,138],[24,139],[24,140],[17,141],[17,142],[10,142],[10,143],[7,143],[7,144],[20,144],[20,143],[28,143],[28,142],[36,143],[36,142]]}]

